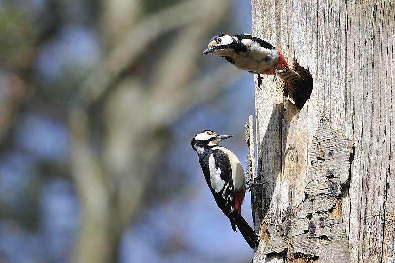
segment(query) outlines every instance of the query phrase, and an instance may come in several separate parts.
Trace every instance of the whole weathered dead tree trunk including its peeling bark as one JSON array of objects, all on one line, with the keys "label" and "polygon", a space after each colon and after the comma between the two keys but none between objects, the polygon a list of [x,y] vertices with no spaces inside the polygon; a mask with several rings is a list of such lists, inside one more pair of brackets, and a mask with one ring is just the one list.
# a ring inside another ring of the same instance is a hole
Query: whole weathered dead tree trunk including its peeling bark
[{"label": "whole weathered dead tree trunk including its peeling bark", "polygon": [[255,87],[253,262],[394,263],[395,2],[252,0],[252,20],[312,84]]}]

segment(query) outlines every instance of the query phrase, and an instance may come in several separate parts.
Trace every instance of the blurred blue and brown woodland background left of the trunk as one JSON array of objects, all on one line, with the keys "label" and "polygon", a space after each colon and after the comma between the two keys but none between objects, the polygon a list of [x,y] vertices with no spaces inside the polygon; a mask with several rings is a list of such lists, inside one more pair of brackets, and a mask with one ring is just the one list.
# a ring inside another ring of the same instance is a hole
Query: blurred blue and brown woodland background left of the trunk
[{"label": "blurred blue and brown woodland background left of the trunk", "polygon": [[[190,141],[245,167],[249,0],[0,0],[0,263],[249,263]],[[243,215],[252,225],[250,194]]]}]

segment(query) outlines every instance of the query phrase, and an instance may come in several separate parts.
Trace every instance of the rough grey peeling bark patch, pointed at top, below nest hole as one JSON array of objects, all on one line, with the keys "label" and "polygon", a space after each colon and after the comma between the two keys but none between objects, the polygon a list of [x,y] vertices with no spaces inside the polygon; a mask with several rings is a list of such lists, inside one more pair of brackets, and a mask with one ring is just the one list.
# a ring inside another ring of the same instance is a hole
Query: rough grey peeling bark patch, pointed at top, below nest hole
[{"label": "rough grey peeling bark patch, pointed at top, below nest hole", "polygon": [[320,263],[351,261],[340,197],[352,156],[353,143],[322,118],[312,140],[303,208],[289,232],[292,256]]}]

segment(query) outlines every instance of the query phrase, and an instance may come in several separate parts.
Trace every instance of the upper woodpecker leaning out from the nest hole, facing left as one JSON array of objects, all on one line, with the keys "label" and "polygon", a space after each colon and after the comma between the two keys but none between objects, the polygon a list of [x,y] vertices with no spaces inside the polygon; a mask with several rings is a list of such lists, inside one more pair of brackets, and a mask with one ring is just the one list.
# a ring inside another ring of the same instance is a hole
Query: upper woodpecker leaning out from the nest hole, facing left
[{"label": "upper woodpecker leaning out from the nest hole, facing left", "polygon": [[288,67],[281,52],[270,43],[249,34],[230,36],[218,34],[211,38],[204,54],[224,57],[240,70],[253,74],[277,75],[285,82],[298,85],[304,79]]}]

